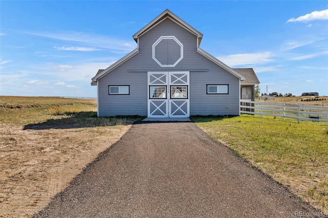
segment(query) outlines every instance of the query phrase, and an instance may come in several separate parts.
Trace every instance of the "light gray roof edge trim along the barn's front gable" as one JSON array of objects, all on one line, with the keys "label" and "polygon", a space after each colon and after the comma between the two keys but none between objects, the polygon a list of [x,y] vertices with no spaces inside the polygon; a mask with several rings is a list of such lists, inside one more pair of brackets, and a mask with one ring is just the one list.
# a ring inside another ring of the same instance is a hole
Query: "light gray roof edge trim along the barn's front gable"
[{"label": "light gray roof edge trim along the barn's front gable", "polygon": [[[194,34],[197,37],[197,52],[199,54],[201,54],[204,57],[206,57],[207,59],[211,60],[212,62],[214,62],[215,64],[217,64],[219,67],[223,68],[224,70],[228,71],[232,75],[238,77],[241,81],[246,79],[239,72],[233,70],[232,68],[230,68],[229,66],[227,66],[226,64],[224,64],[223,62],[221,62],[220,60],[216,59],[214,56],[212,56],[209,53],[205,52],[204,50],[200,49],[199,48],[199,45],[200,45],[200,41],[201,41],[201,39],[203,37],[203,34],[201,34],[199,31],[197,31],[196,29],[194,29],[192,26],[190,26],[189,24],[187,24],[185,21],[183,21],[181,18],[179,18],[178,16],[176,16],[174,13],[172,13],[168,9],[165,10],[165,11],[163,11],[155,19],[153,19],[149,24],[147,24],[144,28],[142,28],[141,30],[139,30],[137,33],[135,33],[133,35],[133,38],[137,42],[137,44],[138,44],[138,40],[139,40],[139,37],[140,36],[146,34],[149,30],[151,30],[152,28],[154,28],[155,26],[157,26],[163,20],[166,20],[166,19],[171,19],[176,24],[178,24],[180,27],[188,30],[189,32],[191,32],[192,34]],[[97,72],[97,74],[92,78],[91,85],[97,85],[97,80],[98,79],[100,79],[101,77],[103,77],[106,74],[110,73],[112,70],[114,70],[115,68],[117,68],[118,66],[120,66],[120,64],[124,63],[125,61],[127,61],[131,57],[133,57],[134,55],[138,54],[138,52],[139,52],[139,45],[138,45],[138,47],[135,50],[133,50],[132,52],[130,52],[126,56],[124,56],[121,59],[119,59],[118,61],[116,61],[114,64],[112,64],[107,69],[102,70],[102,71],[99,70]]]}]

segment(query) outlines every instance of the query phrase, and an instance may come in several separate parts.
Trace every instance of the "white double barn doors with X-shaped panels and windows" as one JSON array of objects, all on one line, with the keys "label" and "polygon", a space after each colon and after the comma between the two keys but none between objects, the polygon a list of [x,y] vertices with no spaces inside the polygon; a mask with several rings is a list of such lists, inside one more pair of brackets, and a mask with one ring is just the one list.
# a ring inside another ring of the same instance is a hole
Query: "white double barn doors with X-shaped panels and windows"
[{"label": "white double barn doors with X-shaped panels and windows", "polygon": [[148,72],[148,117],[189,117],[189,72]]}]

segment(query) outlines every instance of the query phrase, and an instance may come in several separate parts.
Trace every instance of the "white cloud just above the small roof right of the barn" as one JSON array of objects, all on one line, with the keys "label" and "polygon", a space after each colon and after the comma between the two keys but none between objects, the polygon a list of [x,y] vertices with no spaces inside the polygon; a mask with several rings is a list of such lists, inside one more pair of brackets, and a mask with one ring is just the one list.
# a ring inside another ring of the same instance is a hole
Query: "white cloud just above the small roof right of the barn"
[{"label": "white cloud just above the small roof right of the barn", "polygon": [[240,66],[246,64],[260,64],[273,61],[271,57],[274,54],[271,52],[259,52],[259,53],[249,53],[249,54],[233,54],[228,56],[217,57],[223,63],[228,66]]}]

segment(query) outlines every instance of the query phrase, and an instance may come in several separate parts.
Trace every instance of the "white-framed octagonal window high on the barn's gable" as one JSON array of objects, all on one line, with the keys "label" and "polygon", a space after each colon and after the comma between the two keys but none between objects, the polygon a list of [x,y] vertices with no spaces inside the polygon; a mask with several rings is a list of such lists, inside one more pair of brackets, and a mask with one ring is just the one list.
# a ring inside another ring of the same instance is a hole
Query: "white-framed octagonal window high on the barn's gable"
[{"label": "white-framed octagonal window high on the barn's gable", "polygon": [[183,45],[175,36],[161,36],[153,44],[153,59],[160,67],[175,67],[183,58]]}]

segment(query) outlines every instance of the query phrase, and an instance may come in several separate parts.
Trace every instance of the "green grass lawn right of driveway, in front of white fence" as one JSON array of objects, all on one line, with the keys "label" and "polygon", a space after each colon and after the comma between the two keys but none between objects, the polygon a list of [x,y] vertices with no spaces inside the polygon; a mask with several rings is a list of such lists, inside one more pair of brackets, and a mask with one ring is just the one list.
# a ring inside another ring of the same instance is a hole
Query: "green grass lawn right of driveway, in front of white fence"
[{"label": "green grass lawn right of driveway, in front of white fence", "polygon": [[328,212],[328,123],[272,117],[192,116],[237,155]]}]

